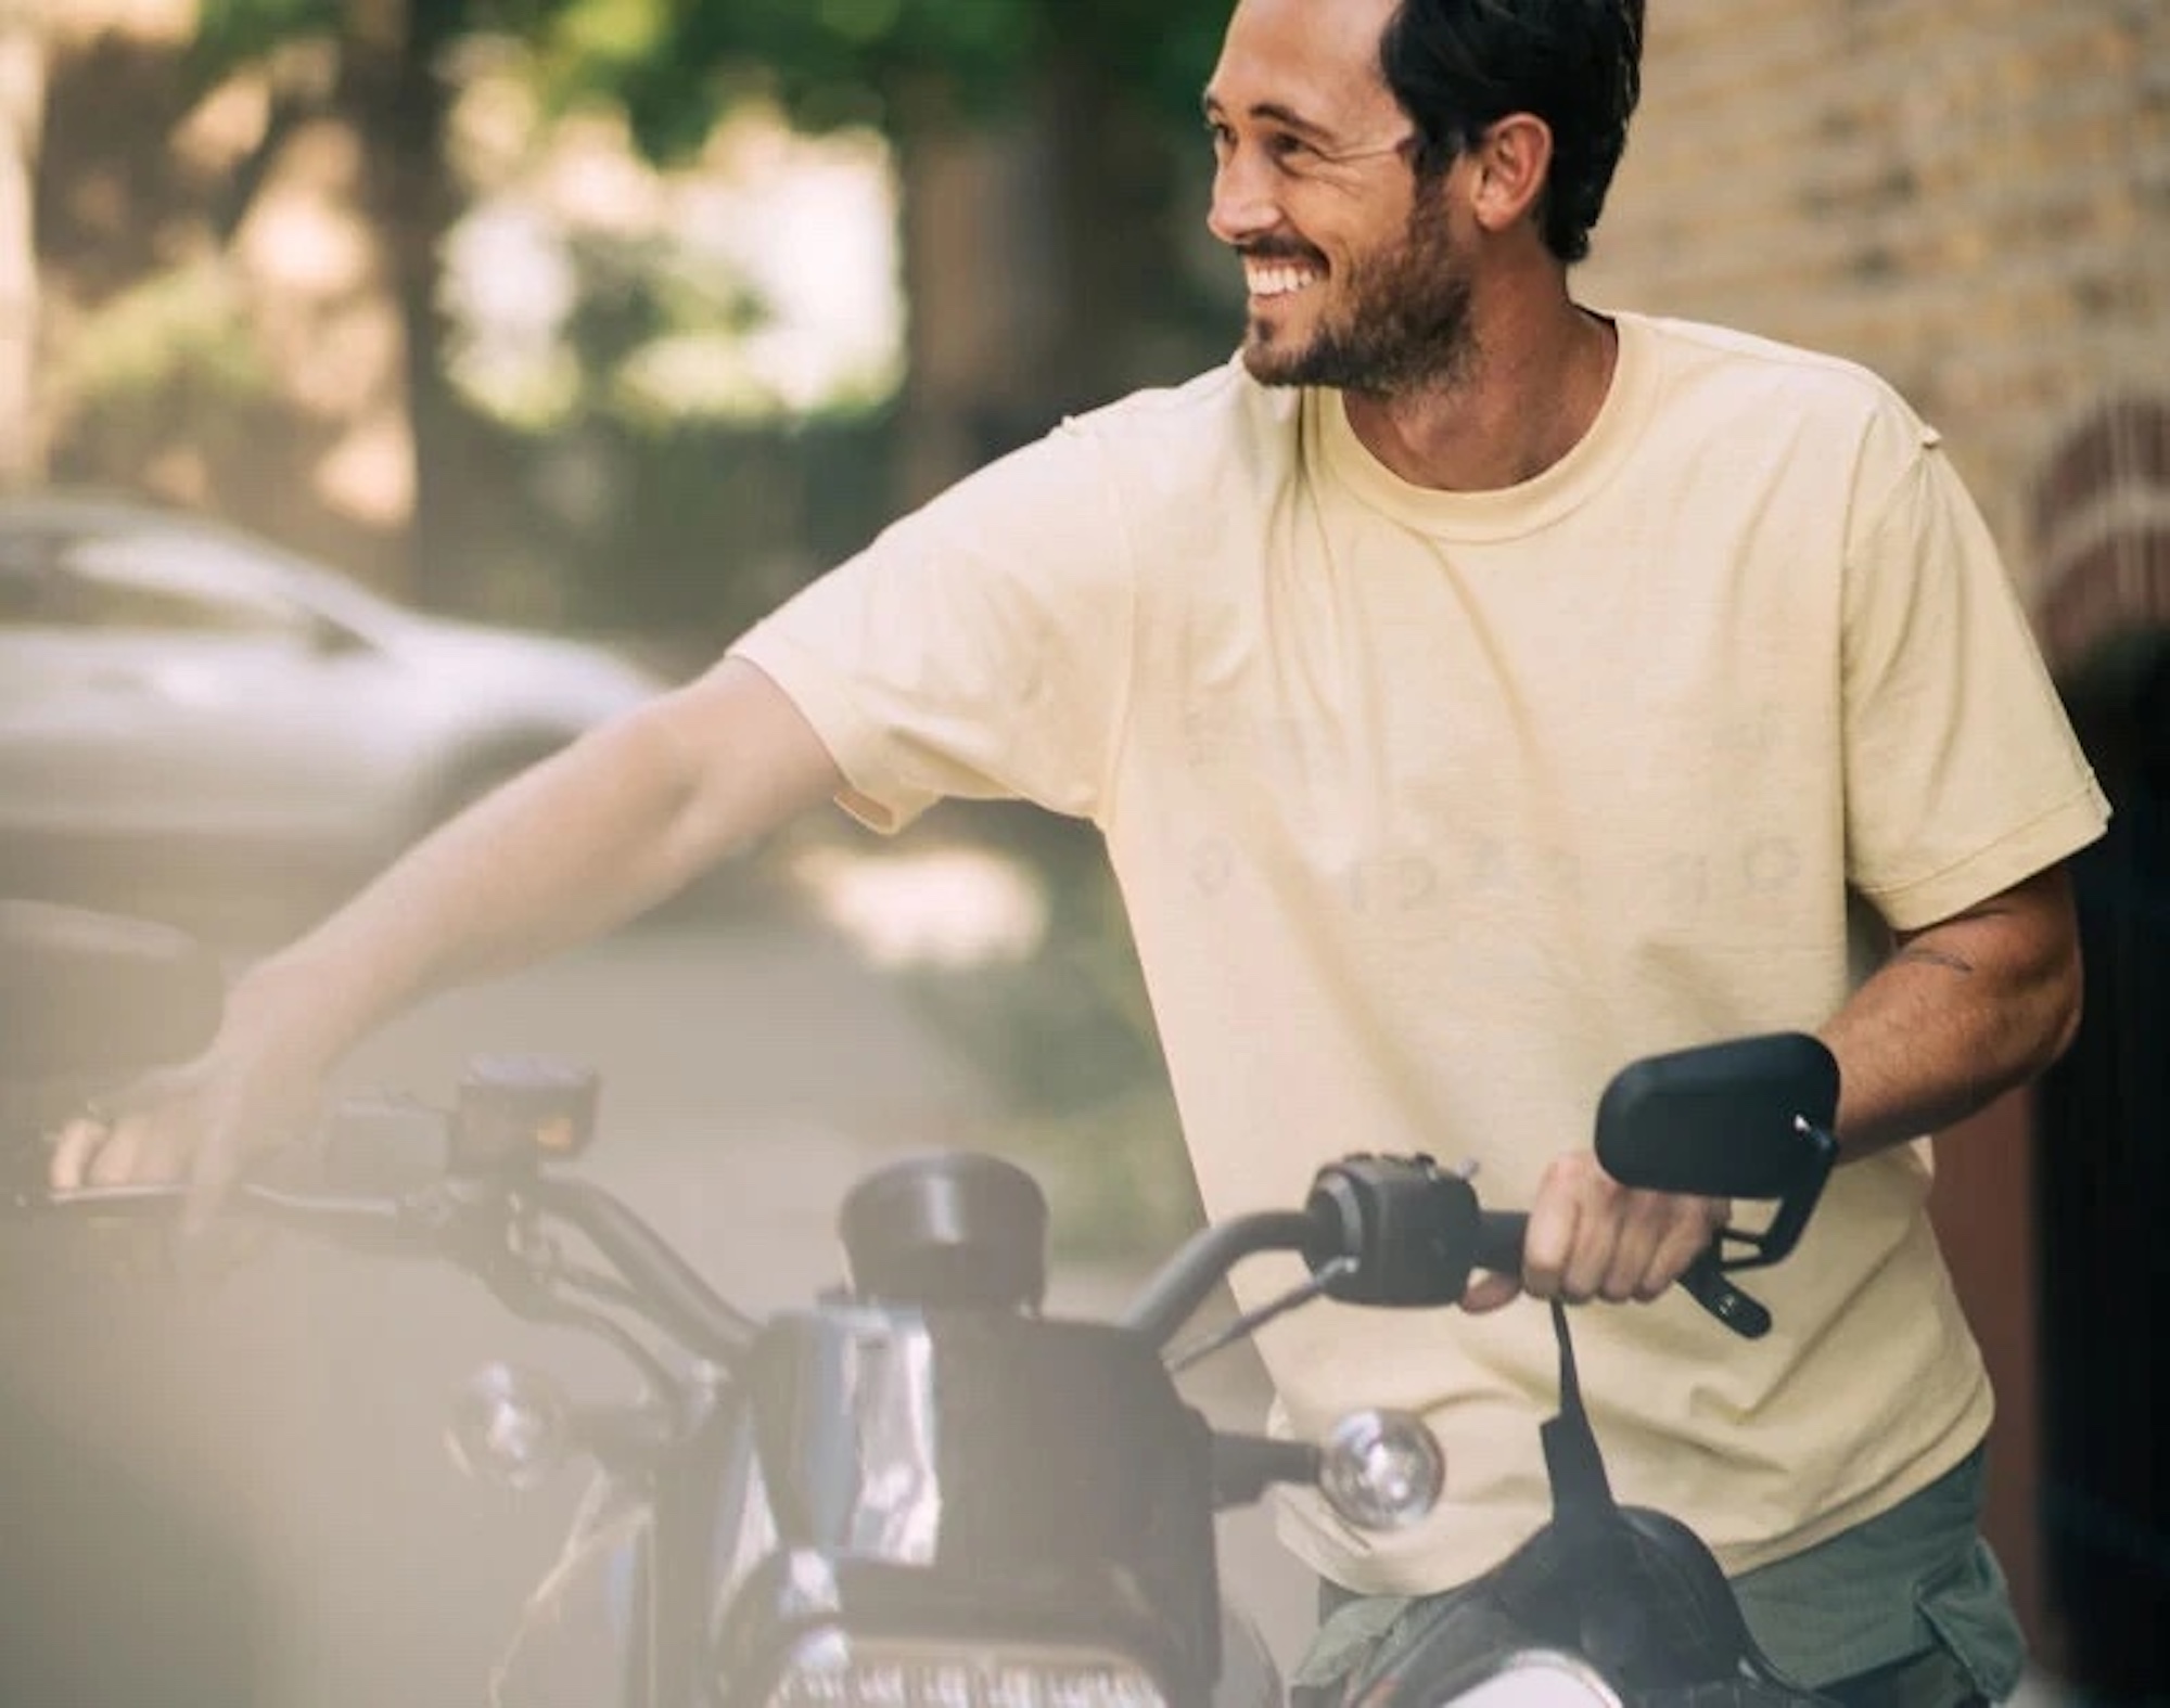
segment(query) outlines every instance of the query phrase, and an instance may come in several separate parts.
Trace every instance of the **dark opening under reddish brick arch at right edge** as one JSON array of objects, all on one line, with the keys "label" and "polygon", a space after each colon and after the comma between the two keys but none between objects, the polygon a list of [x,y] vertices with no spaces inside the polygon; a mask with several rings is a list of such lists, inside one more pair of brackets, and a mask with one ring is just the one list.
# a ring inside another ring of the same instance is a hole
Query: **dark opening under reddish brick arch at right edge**
[{"label": "dark opening under reddish brick arch at right edge", "polygon": [[2118,399],[2035,501],[2040,633],[2116,819],[2072,863],[2085,1021],[2038,1097],[2040,1526],[2070,1684],[2161,1701],[2170,1470],[2170,401]]}]

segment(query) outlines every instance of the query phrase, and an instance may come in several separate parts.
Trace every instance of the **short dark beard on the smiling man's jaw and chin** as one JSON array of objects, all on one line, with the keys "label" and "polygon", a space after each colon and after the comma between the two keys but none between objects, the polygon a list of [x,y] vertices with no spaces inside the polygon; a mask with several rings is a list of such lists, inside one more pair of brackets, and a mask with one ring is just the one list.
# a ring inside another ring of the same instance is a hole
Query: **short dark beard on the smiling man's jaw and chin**
[{"label": "short dark beard on the smiling man's jaw and chin", "polygon": [[[1287,256],[1274,245],[1250,254]],[[1261,386],[1326,386],[1358,397],[1447,386],[1473,351],[1469,297],[1469,269],[1447,236],[1445,212],[1419,199],[1400,245],[1350,264],[1341,301],[1328,303],[1309,340],[1276,342],[1274,329],[1252,316],[1243,366]]]}]

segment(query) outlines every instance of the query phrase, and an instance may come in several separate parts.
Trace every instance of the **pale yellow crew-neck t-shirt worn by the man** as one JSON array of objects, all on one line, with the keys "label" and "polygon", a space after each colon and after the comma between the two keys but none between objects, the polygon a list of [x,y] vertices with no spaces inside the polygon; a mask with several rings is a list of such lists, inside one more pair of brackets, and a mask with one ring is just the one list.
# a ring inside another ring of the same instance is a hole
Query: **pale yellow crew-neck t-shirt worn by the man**
[{"label": "pale yellow crew-neck t-shirt worn by the man", "polygon": [[[1215,1218],[1348,1151],[1521,1207],[1623,1062],[1821,1025],[1849,897],[1925,926],[2105,824],[1938,436],[1851,364],[1617,323],[1595,425],[1510,490],[1413,488],[1339,394],[1230,364],[963,481],[736,648],[868,821],[1018,795],[1105,832]],[[1738,1571],[1981,1437],[1927,1188],[1927,1144],[1842,1168],[1751,1279],[1762,1342],[1677,1292],[1575,1314],[1623,1500]],[[1447,1452],[1413,1532],[1287,1502],[1326,1576],[1439,1589],[1543,1522],[1541,1305],[1311,1307],[1261,1350],[1295,1433],[1402,1405]]]}]

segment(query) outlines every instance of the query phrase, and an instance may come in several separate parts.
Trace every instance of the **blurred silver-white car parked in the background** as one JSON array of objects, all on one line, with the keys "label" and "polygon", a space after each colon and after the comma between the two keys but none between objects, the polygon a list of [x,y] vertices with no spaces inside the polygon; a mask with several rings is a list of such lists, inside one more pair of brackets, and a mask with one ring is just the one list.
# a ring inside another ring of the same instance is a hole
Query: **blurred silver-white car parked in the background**
[{"label": "blurred silver-white car parked in the background", "polygon": [[191,516],[4,499],[0,887],[336,893],[660,687]]}]

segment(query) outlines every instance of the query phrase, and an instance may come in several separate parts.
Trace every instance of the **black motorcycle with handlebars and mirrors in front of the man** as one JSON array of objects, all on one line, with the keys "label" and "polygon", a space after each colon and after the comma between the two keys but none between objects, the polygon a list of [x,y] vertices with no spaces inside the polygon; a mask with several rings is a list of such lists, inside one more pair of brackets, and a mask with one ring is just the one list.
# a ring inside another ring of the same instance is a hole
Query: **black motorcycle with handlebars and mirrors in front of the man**
[{"label": "black motorcycle with handlebars and mirrors in front of the man", "polygon": [[[0,904],[0,1086],[74,1097],[182,1060],[217,1010],[217,969],[180,934]],[[1521,1268],[1526,1216],[1482,1207],[1465,1175],[1350,1155],[1304,1203],[1196,1233],[1118,1320],[1063,1320],[1044,1311],[1035,1181],[944,1153],[861,1179],[840,1283],[753,1318],[579,1177],[597,1097],[582,1069],[480,1058],[445,1108],[341,1103],[234,1192],[312,1238],[445,1261],[631,1368],[634,1396],[595,1405],[490,1366],[454,1407],[454,1457],[477,1476],[529,1487],[595,1465],[493,1678],[503,1708],[1204,1708],[1235,1678],[1278,1699],[1222,1608],[1215,1513],[1309,1483],[1350,1524],[1391,1530],[1432,1509],[1443,1454],[1421,1420],[1380,1411],[1324,1441],[1217,1431],[1176,1374],[1317,1298],[1439,1309],[1476,1270]],[[1775,1203],[1682,1281],[1732,1333],[1769,1329],[1732,1277],[1799,1240],[1836,1103],[1836,1062],[1805,1034],[1634,1062],[1604,1092],[1597,1155],[1623,1183]],[[22,1186],[13,1207],[165,1216],[182,1196]],[[1259,1253],[1298,1255],[1304,1281],[1178,1346]],[[1708,1548],[1612,1498],[1569,1311],[1549,1309],[1552,1522],[1352,1699],[1812,1701],[1756,1652]]]}]

